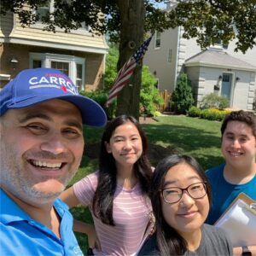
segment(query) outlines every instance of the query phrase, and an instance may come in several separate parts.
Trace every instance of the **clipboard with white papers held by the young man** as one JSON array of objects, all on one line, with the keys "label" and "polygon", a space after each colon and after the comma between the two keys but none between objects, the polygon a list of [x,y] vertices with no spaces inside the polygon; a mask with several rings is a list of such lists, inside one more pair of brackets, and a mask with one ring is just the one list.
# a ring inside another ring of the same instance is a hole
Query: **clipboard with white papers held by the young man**
[{"label": "clipboard with white papers held by the young man", "polygon": [[234,247],[256,245],[256,201],[239,194],[215,226],[230,236]]}]

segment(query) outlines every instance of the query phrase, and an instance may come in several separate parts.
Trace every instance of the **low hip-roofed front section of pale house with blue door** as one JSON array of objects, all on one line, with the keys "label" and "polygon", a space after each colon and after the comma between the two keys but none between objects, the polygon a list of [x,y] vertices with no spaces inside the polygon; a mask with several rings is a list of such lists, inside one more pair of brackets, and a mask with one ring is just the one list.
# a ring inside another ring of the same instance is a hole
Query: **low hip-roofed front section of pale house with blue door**
[{"label": "low hip-roofed front section of pale house with blue door", "polygon": [[222,49],[210,48],[187,59],[184,67],[197,102],[215,92],[228,97],[231,108],[253,109],[256,70],[253,65]]}]

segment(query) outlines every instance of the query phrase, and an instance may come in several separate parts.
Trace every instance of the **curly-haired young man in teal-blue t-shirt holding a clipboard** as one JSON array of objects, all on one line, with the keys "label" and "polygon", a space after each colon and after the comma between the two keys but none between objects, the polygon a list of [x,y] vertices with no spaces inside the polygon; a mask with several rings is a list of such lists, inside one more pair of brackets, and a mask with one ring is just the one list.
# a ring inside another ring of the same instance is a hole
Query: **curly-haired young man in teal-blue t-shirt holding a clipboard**
[{"label": "curly-haired young man in teal-blue t-shirt holding a clipboard", "polygon": [[[221,150],[225,163],[207,170],[212,185],[212,206],[207,218],[214,224],[241,192],[256,200],[256,117],[234,111],[221,126]],[[256,246],[234,248],[234,255],[256,255]]]}]

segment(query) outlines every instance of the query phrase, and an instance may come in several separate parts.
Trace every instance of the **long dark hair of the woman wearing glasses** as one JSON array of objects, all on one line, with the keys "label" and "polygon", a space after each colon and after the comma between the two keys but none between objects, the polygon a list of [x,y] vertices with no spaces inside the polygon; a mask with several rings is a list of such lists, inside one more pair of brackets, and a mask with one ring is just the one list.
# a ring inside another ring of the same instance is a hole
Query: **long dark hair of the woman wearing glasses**
[{"label": "long dark hair of the woman wearing glasses", "polygon": [[160,160],[153,173],[150,185],[150,199],[156,220],[156,237],[161,255],[183,255],[187,251],[187,242],[185,239],[166,223],[160,201],[160,190],[163,189],[166,173],[170,168],[180,163],[186,163],[191,166],[199,177],[201,177],[201,180],[207,182],[209,204],[212,201],[211,188],[207,176],[193,157],[185,154],[172,154]]}]

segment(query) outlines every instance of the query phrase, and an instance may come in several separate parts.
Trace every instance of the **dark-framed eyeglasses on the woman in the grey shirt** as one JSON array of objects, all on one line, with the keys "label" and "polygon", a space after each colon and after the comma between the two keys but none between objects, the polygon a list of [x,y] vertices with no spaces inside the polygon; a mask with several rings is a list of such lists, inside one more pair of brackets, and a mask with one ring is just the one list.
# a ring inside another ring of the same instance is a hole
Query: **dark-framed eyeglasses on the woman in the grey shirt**
[{"label": "dark-framed eyeglasses on the woman in the grey shirt", "polygon": [[193,183],[185,189],[171,187],[161,190],[163,198],[168,204],[180,201],[183,196],[183,191],[187,191],[188,195],[193,199],[200,199],[207,195],[207,183]]}]

